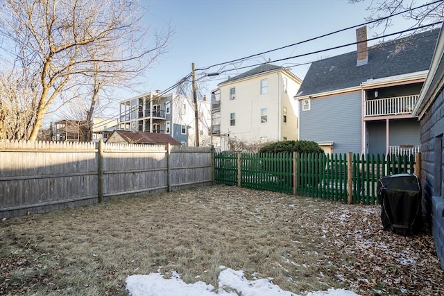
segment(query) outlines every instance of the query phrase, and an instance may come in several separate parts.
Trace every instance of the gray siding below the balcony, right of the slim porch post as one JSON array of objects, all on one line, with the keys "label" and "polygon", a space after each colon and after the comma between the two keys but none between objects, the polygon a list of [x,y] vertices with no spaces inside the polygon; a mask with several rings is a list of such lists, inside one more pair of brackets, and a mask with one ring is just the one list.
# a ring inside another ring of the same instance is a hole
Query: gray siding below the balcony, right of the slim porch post
[{"label": "gray siding below the balcony, right of the slim porch post", "polygon": [[388,146],[420,145],[420,125],[416,119],[390,121]]}]

